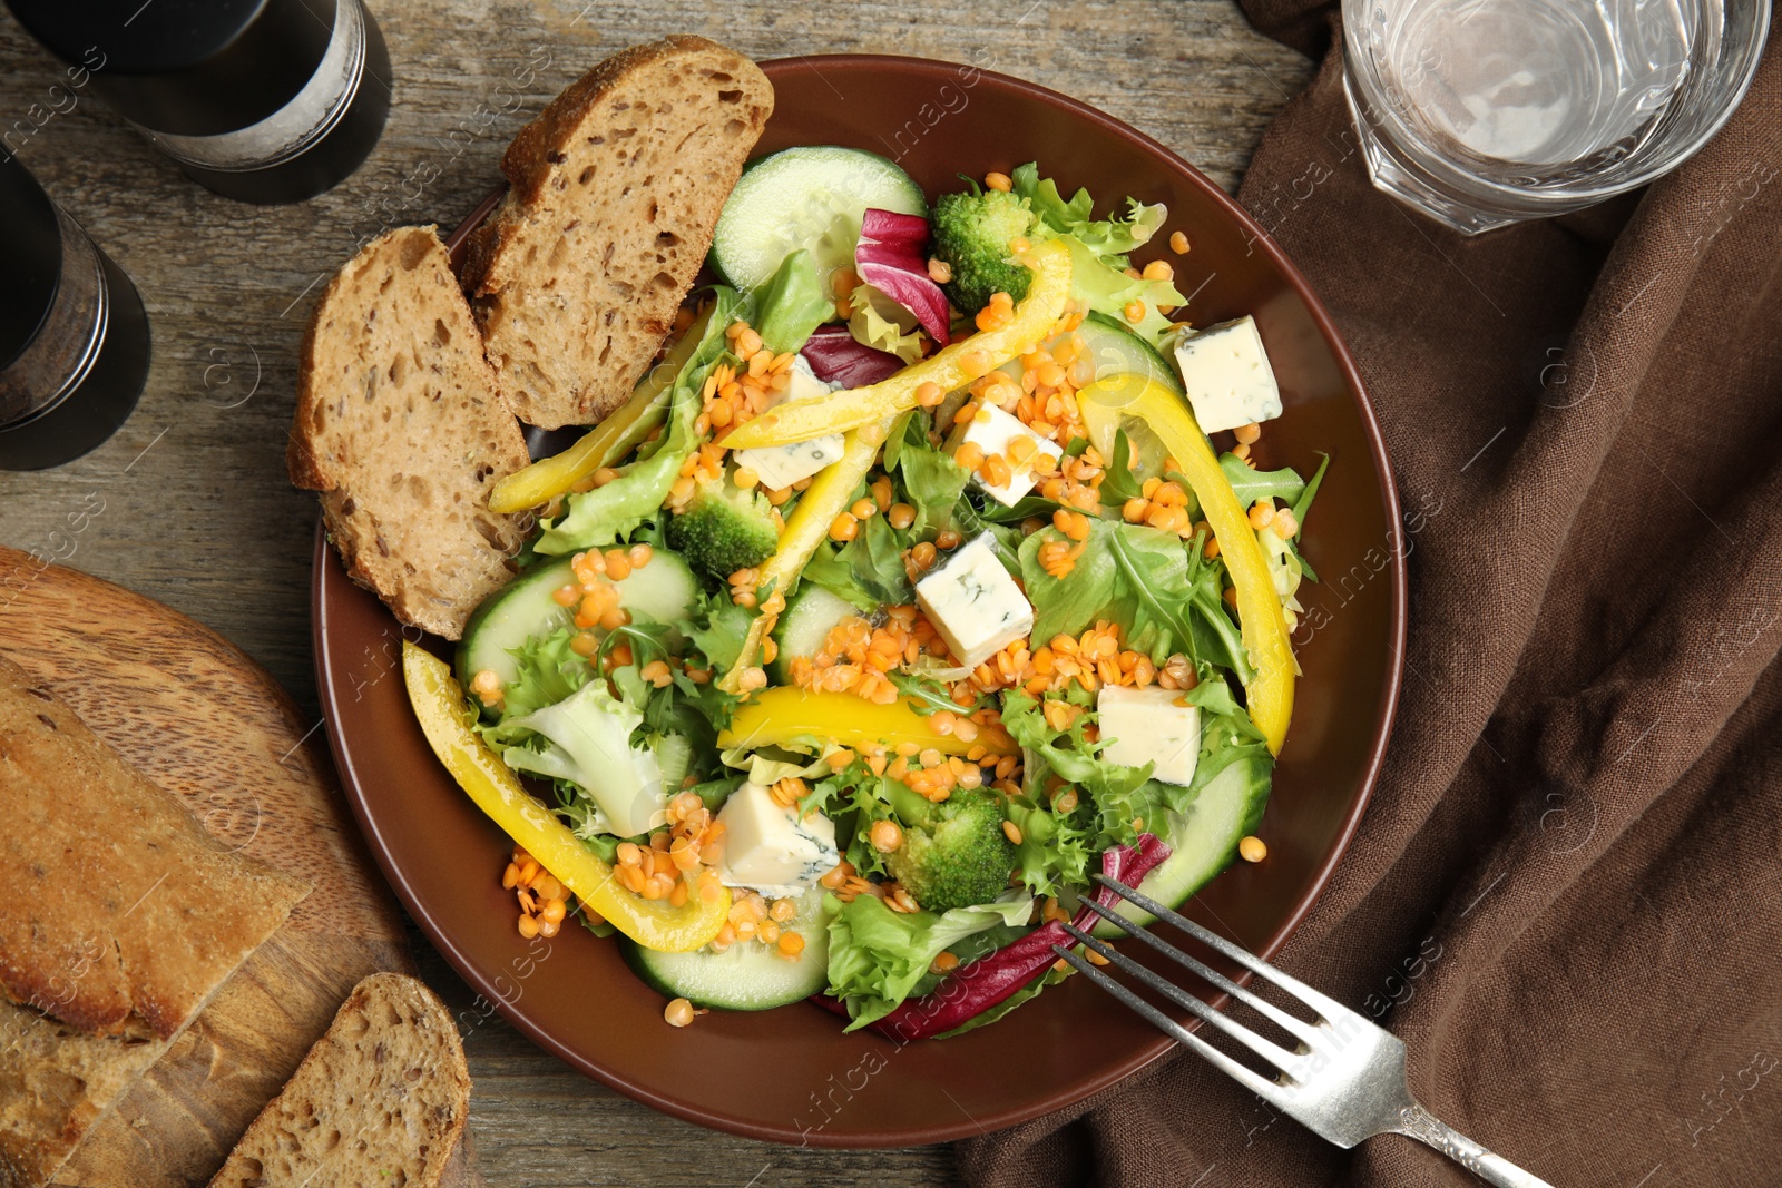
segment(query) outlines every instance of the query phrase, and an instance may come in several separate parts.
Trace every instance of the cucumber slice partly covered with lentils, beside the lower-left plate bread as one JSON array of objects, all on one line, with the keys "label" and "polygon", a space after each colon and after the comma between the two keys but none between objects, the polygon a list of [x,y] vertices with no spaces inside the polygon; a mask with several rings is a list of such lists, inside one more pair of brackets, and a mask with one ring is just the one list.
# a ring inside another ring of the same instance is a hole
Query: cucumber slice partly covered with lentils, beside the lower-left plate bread
[{"label": "cucumber slice partly covered with lentils, beside the lower-left plate bread", "polygon": [[[511,684],[519,675],[513,648],[533,636],[549,636],[560,627],[574,625],[576,613],[558,606],[552,597],[574,581],[572,559],[563,557],[526,570],[488,595],[463,627],[463,641],[458,645],[458,680],[469,682],[486,668],[501,677],[503,686]],[[649,565],[631,570],[631,575],[617,586],[622,607],[647,614],[658,623],[686,622],[699,597],[693,570],[661,549]]]}]

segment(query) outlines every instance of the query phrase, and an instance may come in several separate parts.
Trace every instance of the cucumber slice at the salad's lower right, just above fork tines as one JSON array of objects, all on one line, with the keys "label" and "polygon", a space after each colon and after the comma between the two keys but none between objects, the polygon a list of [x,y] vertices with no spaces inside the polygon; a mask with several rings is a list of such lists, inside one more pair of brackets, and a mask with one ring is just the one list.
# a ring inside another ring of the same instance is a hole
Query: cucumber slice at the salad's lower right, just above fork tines
[{"label": "cucumber slice at the salad's lower right, just above fork tines", "polygon": [[[1201,789],[1185,816],[1169,814],[1169,857],[1164,858],[1139,891],[1167,908],[1180,908],[1196,891],[1231,866],[1237,842],[1255,834],[1269,803],[1274,764],[1267,759],[1240,759],[1215,775]],[[1121,901],[1119,914],[1135,924],[1149,924],[1155,915]],[[1096,921],[1094,935],[1110,940],[1124,937],[1117,924]]]}]

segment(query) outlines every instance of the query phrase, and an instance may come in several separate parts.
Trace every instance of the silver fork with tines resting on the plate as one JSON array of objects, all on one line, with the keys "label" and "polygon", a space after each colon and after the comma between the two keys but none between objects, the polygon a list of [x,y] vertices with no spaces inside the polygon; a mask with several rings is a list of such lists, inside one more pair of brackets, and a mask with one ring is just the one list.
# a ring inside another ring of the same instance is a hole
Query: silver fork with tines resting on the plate
[{"label": "silver fork with tines resting on the plate", "polygon": [[1132,887],[1107,878],[1105,875],[1096,875],[1096,880],[1117,892],[1133,907],[1144,908],[1160,921],[1174,924],[1206,948],[1224,953],[1238,965],[1267,978],[1317,1015],[1313,1022],[1296,1019],[1278,1006],[1262,1001],[1219,971],[1194,960],[1167,940],[1139,928],[1117,912],[1103,908],[1092,899],[1083,899],[1083,907],[1094,908],[1094,912],[1103,919],[1117,924],[1139,940],[1144,940],[1164,956],[1183,965],[1203,981],[1224,990],[1238,1003],[1256,1010],[1299,1040],[1297,1051],[1287,1051],[1279,1044],[1256,1035],[1244,1024],[1235,1022],[1228,1015],[1214,1010],[1201,999],[1194,997],[1181,987],[1173,985],[1130,956],[1124,956],[1101,940],[1096,940],[1087,932],[1071,924],[1064,926],[1066,932],[1101,956],[1108,958],[1108,962],[1144,981],[1158,994],[1164,994],[1173,1003],[1194,1012],[1203,1022],[1219,1028],[1278,1070],[1274,1079],[1260,1076],[1203,1040],[1194,1031],[1183,1028],[1180,1022],[1128,990],[1101,969],[1096,969],[1076,949],[1066,949],[1059,944],[1051,946],[1064,960],[1078,971],[1089,974],[1089,978],[1103,990],[1155,1022],[1176,1042],[1198,1051],[1238,1085],[1251,1090],[1290,1119],[1296,1119],[1313,1135],[1319,1135],[1338,1147],[1354,1147],[1363,1138],[1372,1138],[1374,1135],[1406,1135],[1435,1147],[1488,1184],[1499,1184],[1499,1188],[1552,1188],[1547,1181],[1524,1172],[1504,1156],[1486,1151],[1424,1110],[1417,1099],[1411,1097],[1410,1085],[1404,1081],[1404,1042],[1399,1040],[1399,1037],[1374,1026],[1370,1021],[1363,1019],[1342,1003],[1319,994],[1297,978],[1283,974],[1255,953],[1249,953],[1224,937],[1206,932],[1194,921],[1171,912],[1149,896],[1142,896]]}]

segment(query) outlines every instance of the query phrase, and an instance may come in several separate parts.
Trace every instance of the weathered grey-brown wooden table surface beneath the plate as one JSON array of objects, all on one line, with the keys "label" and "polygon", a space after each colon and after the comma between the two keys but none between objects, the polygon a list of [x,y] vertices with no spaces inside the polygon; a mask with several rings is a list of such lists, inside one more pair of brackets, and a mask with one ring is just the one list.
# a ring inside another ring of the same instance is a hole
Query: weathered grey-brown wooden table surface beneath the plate
[{"label": "weathered grey-brown wooden table surface beneath the plate", "polygon": [[[135,280],[153,367],[135,415],[59,470],[0,472],[0,543],[159,598],[258,659],[307,714],[312,495],[283,447],[303,321],[355,246],[403,223],[453,226],[497,180],[508,139],[601,57],[699,32],[757,59],[907,53],[969,61],[1089,102],[1233,189],[1310,62],[1253,32],[1231,0],[371,0],[394,102],[358,173],[294,207],[187,182],[0,11],[0,135]],[[1117,198],[1098,194],[1103,201]],[[428,981],[470,992],[410,926]],[[499,1015],[465,1038],[470,1127],[504,1186],[948,1184],[944,1147],[836,1152],[745,1142],[640,1106],[545,1056]]]}]

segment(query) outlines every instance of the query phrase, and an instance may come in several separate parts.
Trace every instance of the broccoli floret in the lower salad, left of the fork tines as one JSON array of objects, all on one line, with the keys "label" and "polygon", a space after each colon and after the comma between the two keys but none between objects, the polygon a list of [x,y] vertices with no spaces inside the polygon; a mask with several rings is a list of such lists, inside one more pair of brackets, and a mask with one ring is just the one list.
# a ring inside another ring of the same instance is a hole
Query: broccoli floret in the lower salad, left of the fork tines
[{"label": "broccoli floret in the lower salad, left of the fork tines", "polygon": [[1009,889],[1014,846],[1003,835],[1001,803],[984,789],[953,793],[905,823],[886,869],[930,912],[989,903]]}]

